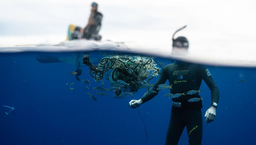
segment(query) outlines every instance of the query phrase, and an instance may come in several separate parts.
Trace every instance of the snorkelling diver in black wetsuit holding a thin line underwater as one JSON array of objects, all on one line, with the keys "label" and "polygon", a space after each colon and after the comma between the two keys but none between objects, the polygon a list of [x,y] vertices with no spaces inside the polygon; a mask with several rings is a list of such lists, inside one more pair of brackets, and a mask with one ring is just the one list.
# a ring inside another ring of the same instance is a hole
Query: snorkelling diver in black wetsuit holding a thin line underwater
[{"label": "snorkelling diver in black wetsuit holding a thin line underwater", "polygon": [[[187,50],[188,40],[186,37],[173,39],[173,48]],[[165,84],[167,79],[170,86]],[[168,95],[169,98],[172,98],[172,112],[165,145],[177,145],[185,126],[187,128],[189,144],[201,145],[203,132],[202,98],[198,93],[200,93],[199,88],[202,80],[205,81],[211,90],[211,105],[204,115],[206,117],[205,122],[213,122],[219,101],[219,90],[209,70],[205,66],[198,64],[177,61],[166,65],[154,86],[139,100],[131,100],[129,102],[130,107],[137,108],[155,97],[159,90],[164,90],[165,87],[171,88],[171,94]]]}]

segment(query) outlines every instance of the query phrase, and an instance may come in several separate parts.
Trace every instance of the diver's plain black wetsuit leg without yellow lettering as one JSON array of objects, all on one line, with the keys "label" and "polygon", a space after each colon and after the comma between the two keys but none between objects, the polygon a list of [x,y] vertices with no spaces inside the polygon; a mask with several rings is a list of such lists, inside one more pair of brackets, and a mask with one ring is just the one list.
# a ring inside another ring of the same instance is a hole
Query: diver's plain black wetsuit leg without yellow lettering
[{"label": "diver's plain black wetsuit leg without yellow lettering", "polygon": [[165,145],[177,145],[181,137],[181,133],[185,127],[185,123],[181,121],[181,115],[171,113],[169,126],[167,129]]}]

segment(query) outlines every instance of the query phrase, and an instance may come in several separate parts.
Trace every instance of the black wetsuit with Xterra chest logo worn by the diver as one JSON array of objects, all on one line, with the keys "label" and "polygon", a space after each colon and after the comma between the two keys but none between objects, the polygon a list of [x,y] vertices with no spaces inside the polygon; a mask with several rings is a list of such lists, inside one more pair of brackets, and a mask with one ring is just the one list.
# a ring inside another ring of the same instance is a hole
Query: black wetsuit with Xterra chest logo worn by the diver
[{"label": "black wetsuit with Xterra chest logo worn by the diver", "polygon": [[[164,84],[166,80],[172,85],[172,94],[184,93],[190,90],[199,90],[202,79],[211,90],[211,102],[218,103],[219,90],[211,77],[209,70],[202,65],[177,62],[163,68],[158,80],[151,88],[158,93],[158,85]],[[156,96],[156,93],[146,92],[141,98],[145,103]],[[187,127],[190,145],[200,145],[202,142],[202,100],[188,102],[191,98],[200,98],[199,94],[181,95],[172,99],[172,113],[166,135],[166,145],[176,145],[184,127]],[[212,104],[211,103],[211,104]]]}]

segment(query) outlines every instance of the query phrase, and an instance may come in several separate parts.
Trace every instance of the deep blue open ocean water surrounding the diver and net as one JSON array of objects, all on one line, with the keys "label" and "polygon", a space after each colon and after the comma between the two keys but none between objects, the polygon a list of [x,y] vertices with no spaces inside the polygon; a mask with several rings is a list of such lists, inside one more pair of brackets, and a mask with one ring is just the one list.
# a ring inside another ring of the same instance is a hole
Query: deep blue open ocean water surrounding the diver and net
[{"label": "deep blue open ocean water surrounding the diver and net", "polygon": [[[142,104],[140,111],[148,132],[146,139],[140,115],[128,108],[131,97],[114,99],[97,96],[92,87],[100,86],[89,75],[89,67],[83,66],[80,79],[89,79],[91,84],[77,81],[70,71],[76,66],[66,63],[43,64],[35,57],[39,55],[74,56],[75,53],[6,53],[0,54],[0,144],[1,145],[140,145],[165,144],[170,120],[172,100],[164,97],[168,90],[160,91],[156,97]],[[90,53],[90,57],[101,59],[102,53]],[[154,58],[171,63],[169,59]],[[97,64],[99,62],[95,62]],[[220,90],[216,119],[206,124],[204,113],[210,107],[211,93],[202,82],[201,97],[204,97],[202,144],[255,144],[255,68],[207,66]],[[149,81],[156,81],[157,77]],[[245,82],[238,82],[246,79]],[[74,82],[75,92],[66,87]],[[93,101],[84,88],[97,98]],[[104,87],[110,82],[104,80]],[[140,99],[146,89],[133,94]],[[6,115],[15,107],[15,114]],[[188,144],[186,128],[179,145]]]}]

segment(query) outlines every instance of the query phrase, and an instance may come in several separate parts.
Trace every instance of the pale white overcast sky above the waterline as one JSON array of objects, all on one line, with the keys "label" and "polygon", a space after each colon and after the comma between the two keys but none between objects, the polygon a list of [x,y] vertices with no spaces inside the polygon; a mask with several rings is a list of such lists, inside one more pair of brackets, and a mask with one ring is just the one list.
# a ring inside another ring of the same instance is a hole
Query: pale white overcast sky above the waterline
[{"label": "pale white overcast sky above the waterline", "polygon": [[[8,0],[0,5],[0,47],[57,44],[69,24],[85,26],[92,1]],[[140,48],[171,49],[172,34],[190,43],[192,54],[253,60],[255,0],[97,0],[103,13],[102,40],[136,43]],[[238,53],[239,52],[239,53]]]}]

